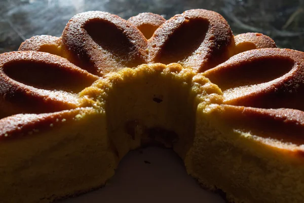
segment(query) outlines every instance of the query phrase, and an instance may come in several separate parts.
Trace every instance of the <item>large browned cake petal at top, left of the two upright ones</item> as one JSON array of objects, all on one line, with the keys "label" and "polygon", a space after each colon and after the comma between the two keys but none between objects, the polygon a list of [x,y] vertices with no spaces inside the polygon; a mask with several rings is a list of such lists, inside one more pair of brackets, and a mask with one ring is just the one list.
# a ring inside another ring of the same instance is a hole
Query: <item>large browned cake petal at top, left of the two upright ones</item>
[{"label": "large browned cake petal at top, left of the two upright ones", "polygon": [[68,59],[102,76],[124,67],[146,63],[147,41],[130,22],[106,12],[75,15],[62,33]]}]

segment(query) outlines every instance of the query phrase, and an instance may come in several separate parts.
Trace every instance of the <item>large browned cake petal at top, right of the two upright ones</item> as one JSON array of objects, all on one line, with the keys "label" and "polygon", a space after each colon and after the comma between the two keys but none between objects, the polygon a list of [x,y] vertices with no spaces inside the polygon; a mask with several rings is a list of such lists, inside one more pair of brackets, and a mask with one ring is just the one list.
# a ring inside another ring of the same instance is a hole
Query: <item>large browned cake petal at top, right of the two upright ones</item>
[{"label": "large browned cake petal at top, right of the two upright ones", "polygon": [[234,45],[230,26],[220,14],[194,9],[155,31],[148,41],[149,62],[178,62],[203,72],[227,60]]}]

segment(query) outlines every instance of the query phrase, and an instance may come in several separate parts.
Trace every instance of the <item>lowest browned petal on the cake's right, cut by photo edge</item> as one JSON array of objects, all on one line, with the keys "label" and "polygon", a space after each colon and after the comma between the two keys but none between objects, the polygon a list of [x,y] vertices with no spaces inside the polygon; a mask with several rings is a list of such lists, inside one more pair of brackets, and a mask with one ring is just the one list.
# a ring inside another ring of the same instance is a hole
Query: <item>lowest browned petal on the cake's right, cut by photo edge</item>
[{"label": "lowest browned petal on the cake's right, cut by photo edge", "polygon": [[304,112],[294,109],[260,109],[220,105],[212,114],[235,130],[264,139],[293,143],[304,142]]}]

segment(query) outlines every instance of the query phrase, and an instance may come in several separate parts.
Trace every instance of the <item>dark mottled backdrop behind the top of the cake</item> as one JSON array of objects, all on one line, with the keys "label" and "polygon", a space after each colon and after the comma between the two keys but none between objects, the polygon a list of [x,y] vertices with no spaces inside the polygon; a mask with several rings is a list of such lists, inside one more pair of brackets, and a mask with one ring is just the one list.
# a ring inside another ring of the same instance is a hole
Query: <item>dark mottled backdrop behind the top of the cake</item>
[{"label": "dark mottled backdrop behind the top of the cake", "polygon": [[0,53],[17,50],[35,35],[59,37],[75,14],[100,10],[128,19],[141,12],[166,19],[188,9],[213,10],[235,35],[261,32],[277,46],[304,51],[304,0],[0,0]]}]

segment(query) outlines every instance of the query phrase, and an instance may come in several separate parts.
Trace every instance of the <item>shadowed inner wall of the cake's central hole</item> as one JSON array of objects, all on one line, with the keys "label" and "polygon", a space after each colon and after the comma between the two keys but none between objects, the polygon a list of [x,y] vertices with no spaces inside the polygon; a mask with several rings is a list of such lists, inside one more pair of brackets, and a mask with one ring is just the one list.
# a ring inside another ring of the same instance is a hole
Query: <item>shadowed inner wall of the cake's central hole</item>
[{"label": "shadowed inner wall of the cake's central hole", "polygon": [[184,158],[195,130],[193,73],[176,80],[178,74],[149,70],[112,83],[105,103],[108,133],[120,158],[151,144],[173,147]]}]

